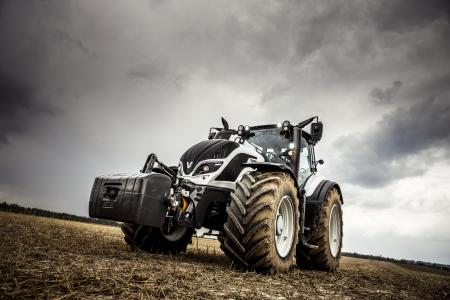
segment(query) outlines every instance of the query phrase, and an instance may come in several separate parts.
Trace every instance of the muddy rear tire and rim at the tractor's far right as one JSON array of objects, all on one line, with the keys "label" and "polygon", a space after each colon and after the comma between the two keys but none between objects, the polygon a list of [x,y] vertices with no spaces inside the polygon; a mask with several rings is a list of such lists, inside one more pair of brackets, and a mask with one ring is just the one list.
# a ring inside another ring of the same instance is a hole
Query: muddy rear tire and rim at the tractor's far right
[{"label": "muddy rear tire and rim at the tractor's far right", "polygon": [[343,236],[341,199],[336,188],[328,191],[319,226],[308,240],[319,248],[297,246],[297,264],[301,268],[334,272],[339,267]]}]

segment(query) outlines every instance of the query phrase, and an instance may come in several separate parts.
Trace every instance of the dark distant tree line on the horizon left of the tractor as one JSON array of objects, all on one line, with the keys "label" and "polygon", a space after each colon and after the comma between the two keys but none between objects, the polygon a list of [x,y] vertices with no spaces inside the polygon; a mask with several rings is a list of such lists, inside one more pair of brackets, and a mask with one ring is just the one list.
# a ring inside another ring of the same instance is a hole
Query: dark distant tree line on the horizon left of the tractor
[{"label": "dark distant tree line on the horizon left of the tractor", "polygon": [[103,224],[103,225],[110,225],[110,226],[120,226],[120,223],[110,220],[101,220],[101,219],[94,219],[89,217],[80,217],[76,215],[71,215],[67,213],[59,213],[54,211],[48,211],[44,209],[39,208],[29,208],[29,207],[23,207],[18,204],[14,203],[0,203],[0,211],[7,211],[7,212],[13,212],[13,213],[19,213],[19,214],[26,214],[26,215],[34,215],[34,216],[41,216],[41,217],[48,217],[48,218],[55,218],[55,219],[62,219],[62,220],[70,220],[70,221],[78,221],[78,222],[85,222],[85,223],[96,223],[96,224]]}]

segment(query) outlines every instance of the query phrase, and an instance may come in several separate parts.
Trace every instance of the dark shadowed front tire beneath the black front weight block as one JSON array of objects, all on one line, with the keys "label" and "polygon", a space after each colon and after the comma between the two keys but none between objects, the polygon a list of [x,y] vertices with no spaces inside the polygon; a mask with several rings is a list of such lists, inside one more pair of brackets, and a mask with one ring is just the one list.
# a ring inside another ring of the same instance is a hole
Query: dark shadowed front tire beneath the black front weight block
[{"label": "dark shadowed front tire beneath the black front weight block", "polygon": [[124,240],[131,249],[162,254],[186,252],[194,233],[194,229],[186,227],[178,227],[166,233],[159,228],[131,223],[124,223],[121,228],[125,234]]}]

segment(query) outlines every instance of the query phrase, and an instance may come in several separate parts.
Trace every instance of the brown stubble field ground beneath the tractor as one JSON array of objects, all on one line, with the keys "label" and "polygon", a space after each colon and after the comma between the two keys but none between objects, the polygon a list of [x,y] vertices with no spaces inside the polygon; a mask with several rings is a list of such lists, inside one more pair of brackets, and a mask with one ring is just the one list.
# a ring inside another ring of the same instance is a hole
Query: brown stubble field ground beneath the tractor
[{"label": "brown stubble field ground beneath the tractor", "polygon": [[0,298],[449,298],[450,274],[343,257],[336,273],[260,275],[213,240],[179,256],[133,252],[119,228],[0,212]]}]

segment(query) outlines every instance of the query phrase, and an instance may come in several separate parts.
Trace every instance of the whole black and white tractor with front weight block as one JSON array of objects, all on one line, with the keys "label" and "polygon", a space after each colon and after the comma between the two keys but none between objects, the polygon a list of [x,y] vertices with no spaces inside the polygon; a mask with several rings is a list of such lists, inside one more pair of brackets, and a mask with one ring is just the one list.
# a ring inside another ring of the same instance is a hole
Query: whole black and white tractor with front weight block
[{"label": "whole black and white tractor with front weight block", "polygon": [[222,124],[178,167],[150,154],[137,174],[97,177],[89,215],[124,222],[130,247],[152,253],[185,252],[203,227],[218,232],[223,252],[246,270],[336,270],[343,198],[337,183],[317,174],[318,117],[296,125]]}]

